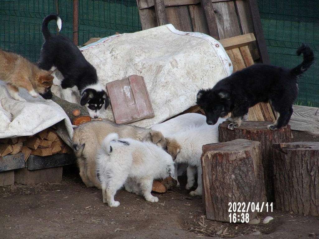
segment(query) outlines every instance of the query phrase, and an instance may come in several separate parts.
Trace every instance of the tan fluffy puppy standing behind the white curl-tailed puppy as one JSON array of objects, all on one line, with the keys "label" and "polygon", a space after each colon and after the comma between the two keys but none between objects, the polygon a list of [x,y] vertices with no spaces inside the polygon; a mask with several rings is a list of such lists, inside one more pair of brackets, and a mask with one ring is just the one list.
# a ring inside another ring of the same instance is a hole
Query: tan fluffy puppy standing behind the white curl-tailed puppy
[{"label": "tan fluffy puppy standing behind the white curl-tailed puppy", "polygon": [[96,154],[103,139],[110,133],[119,134],[120,138],[148,141],[166,147],[164,136],[151,129],[131,125],[119,125],[106,120],[90,121],[74,129],[72,146],[77,157],[80,176],[87,187],[101,188],[96,171]]}]

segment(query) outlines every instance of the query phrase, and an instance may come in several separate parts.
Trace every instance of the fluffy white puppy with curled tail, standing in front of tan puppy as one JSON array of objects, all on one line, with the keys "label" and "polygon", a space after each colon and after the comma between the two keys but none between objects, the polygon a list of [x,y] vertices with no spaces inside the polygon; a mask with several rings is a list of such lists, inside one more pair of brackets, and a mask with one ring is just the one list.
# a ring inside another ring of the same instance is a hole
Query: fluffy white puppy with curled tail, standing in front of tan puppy
[{"label": "fluffy white puppy with curled tail, standing in front of tan puppy", "polygon": [[111,207],[120,205],[114,196],[125,182],[133,182],[134,192],[146,201],[158,202],[151,194],[153,179],[174,177],[172,156],[153,143],[133,139],[118,139],[118,134],[108,134],[98,152],[97,169],[102,186],[103,203]]}]

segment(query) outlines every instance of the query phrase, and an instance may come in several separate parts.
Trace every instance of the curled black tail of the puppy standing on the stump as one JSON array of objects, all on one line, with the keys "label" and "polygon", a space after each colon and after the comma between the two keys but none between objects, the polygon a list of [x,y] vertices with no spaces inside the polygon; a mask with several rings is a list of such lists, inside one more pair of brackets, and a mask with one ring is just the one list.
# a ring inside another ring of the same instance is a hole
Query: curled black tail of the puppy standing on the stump
[{"label": "curled black tail of the puppy standing on the stump", "polygon": [[300,76],[303,72],[308,70],[315,59],[312,49],[304,43],[297,49],[297,55],[300,54],[303,54],[303,62],[291,70],[296,76]]}]

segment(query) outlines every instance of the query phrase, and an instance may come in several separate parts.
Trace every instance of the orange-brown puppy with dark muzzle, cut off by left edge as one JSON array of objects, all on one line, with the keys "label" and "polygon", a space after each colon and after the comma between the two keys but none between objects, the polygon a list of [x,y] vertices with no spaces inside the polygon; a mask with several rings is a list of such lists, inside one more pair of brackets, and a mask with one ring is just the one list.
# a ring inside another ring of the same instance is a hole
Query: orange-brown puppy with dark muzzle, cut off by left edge
[{"label": "orange-brown puppy with dark muzzle, cut off by left edge", "polygon": [[25,88],[32,97],[40,94],[45,99],[51,99],[54,78],[51,73],[19,54],[0,49],[0,80],[6,83],[9,94],[16,100],[26,101],[18,95],[19,87]]}]

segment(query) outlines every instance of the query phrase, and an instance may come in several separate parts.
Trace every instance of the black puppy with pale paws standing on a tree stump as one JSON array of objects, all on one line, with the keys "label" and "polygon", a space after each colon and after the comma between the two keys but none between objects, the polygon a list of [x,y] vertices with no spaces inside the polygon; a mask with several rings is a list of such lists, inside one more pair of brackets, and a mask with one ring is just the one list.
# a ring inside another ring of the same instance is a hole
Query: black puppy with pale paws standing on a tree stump
[{"label": "black puppy with pale paws standing on a tree stump", "polygon": [[303,62],[293,69],[255,64],[220,80],[212,89],[200,90],[197,105],[204,110],[207,124],[214,125],[219,117],[232,112],[227,120],[231,122],[228,129],[233,130],[240,127],[249,107],[269,101],[278,117],[267,127],[276,130],[286,126],[298,96],[298,78],[314,61],[313,51],[305,44],[297,54],[303,54]]}]

